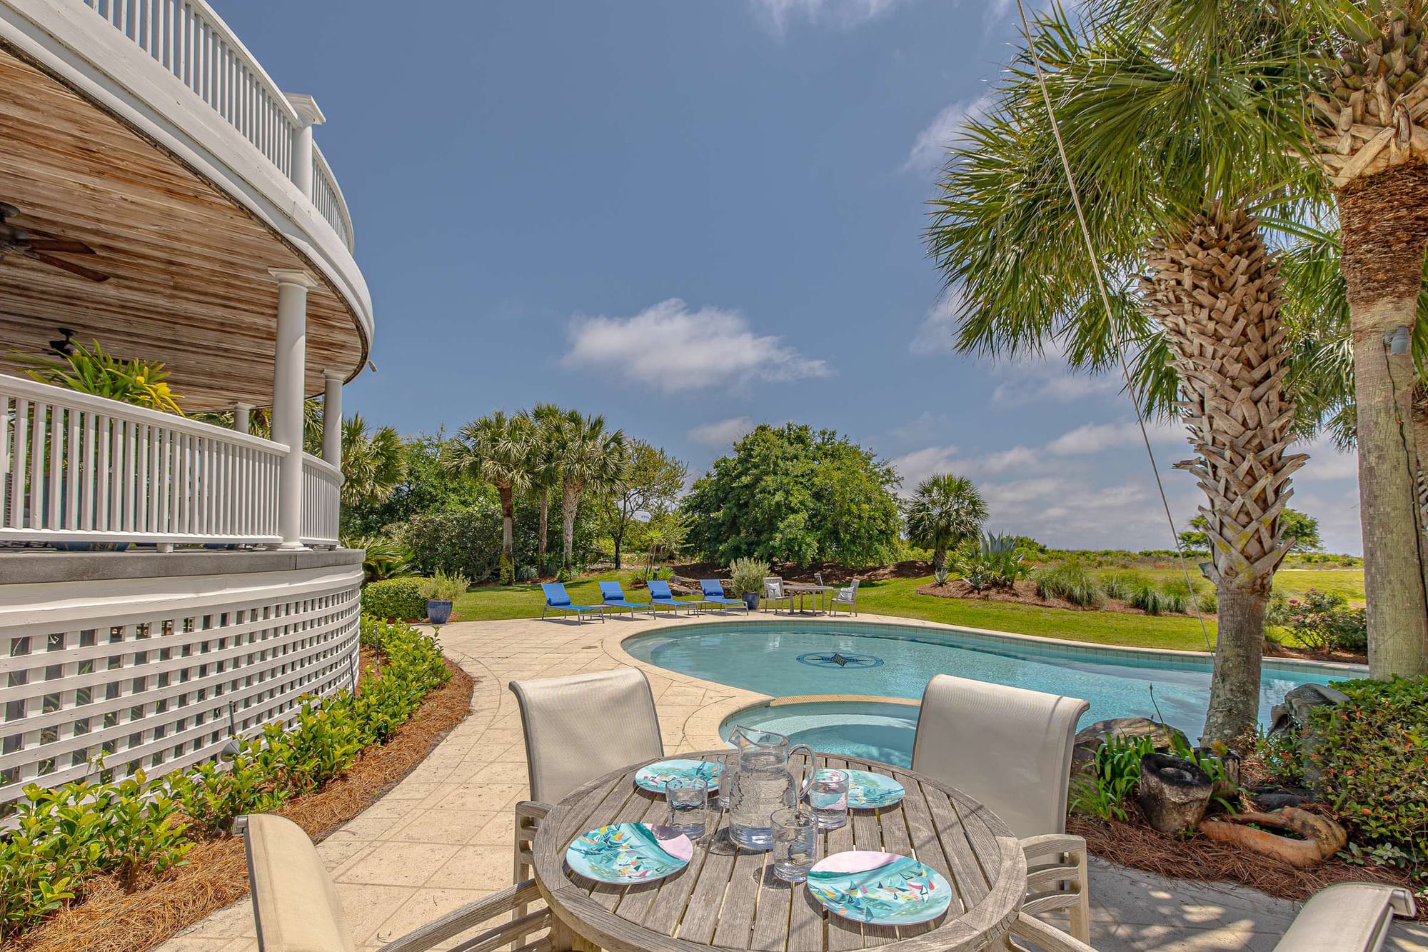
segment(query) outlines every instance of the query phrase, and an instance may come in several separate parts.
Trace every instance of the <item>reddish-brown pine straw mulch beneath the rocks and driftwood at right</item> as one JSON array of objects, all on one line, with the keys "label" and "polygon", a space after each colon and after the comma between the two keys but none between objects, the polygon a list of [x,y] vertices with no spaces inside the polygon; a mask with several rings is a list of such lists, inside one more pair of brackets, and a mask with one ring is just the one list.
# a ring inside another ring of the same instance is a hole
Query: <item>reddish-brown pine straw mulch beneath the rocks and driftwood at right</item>
[{"label": "reddish-brown pine straw mulch beneath the rocks and driftwood at right", "polygon": [[[1131,809],[1135,810],[1134,805]],[[1132,819],[1140,819],[1132,813]],[[1337,882],[1382,882],[1414,892],[1409,875],[1392,866],[1355,866],[1331,859],[1322,866],[1298,869],[1288,863],[1251,853],[1204,836],[1174,838],[1157,833],[1141,822],[1098,820],[1087,816],[1067,819],[1067,832],[1085,838],[1095,856],[1120,866],[1141,869],[1168,879],[1195,882],[1234,882],[1271,896],[1304,902]],[[1419,919],[1428,919],[1428,903],[1419,906]]]}]

